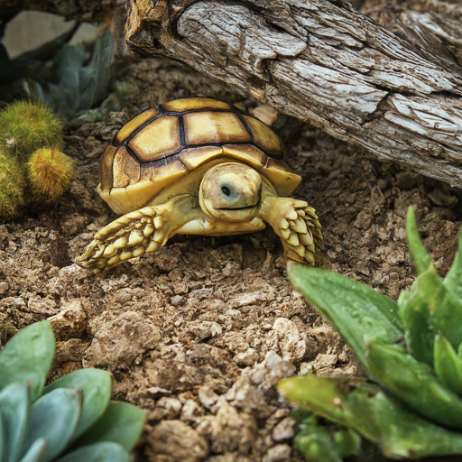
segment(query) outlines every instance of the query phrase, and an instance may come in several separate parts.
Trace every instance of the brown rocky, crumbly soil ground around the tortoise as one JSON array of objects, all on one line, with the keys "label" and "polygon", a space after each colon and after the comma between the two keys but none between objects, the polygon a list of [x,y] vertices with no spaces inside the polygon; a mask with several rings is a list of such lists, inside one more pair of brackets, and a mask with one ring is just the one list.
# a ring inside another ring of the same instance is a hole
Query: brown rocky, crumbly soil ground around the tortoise
[{"label": "brown rocky, crumbly soil ground around the tortoise", "polygon": [[[220,238],[177,236],[104,278],[73,264],[115,218],[96,192],[99,158],[138,112],[204,95],[254,101],[180,64],[125,62],[106,110],[69,123],[64,152],[75,178],[60,204],[0,221],[0,320],[23,328],[50,319],[58,341],[51,379],[81,367],[115,375],[115,400],[148,411],[136,459],[150,462],[302,460],[288,402],[274,384],[308,373],[354,374],[349,347],[293,291],[273,230]],[[318,210],[319,265],[396,299],[415,277],[407,208],[441,273],[461,221],[460,193],[294,119],[275,125],[303,181],[294,197]]]}]

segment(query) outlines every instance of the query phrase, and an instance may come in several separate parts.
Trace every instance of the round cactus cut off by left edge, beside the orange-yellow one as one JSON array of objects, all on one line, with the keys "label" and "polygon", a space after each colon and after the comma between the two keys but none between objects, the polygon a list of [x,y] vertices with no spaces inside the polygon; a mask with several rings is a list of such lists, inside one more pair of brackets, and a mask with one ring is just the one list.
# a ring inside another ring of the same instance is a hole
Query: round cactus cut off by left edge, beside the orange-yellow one
[{"label": "round cactus cut off by left edge, beside the orange-yellow one", "polygon": [[23,204],[23,169],[0,152],[0,217],[15,217]]}]

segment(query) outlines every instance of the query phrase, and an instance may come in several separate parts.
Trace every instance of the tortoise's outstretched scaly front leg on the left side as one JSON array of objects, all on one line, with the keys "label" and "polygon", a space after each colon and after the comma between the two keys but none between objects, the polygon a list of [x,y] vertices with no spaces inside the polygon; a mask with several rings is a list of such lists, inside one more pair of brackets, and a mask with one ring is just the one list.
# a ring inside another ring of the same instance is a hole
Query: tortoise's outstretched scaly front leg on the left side
[{"label": "tortoise's outstretched scaly front leg on the left side", "polygon": [[[76,263],[104,276],[125,260],[154,252],[165,245],[180,226],[196,218],[194,209],[186,211],[180,207],[181,201],[188,200],[189,197],[182,196],[116,219],[97,232]],[[197,211],[201,214],[200,208]]]}]

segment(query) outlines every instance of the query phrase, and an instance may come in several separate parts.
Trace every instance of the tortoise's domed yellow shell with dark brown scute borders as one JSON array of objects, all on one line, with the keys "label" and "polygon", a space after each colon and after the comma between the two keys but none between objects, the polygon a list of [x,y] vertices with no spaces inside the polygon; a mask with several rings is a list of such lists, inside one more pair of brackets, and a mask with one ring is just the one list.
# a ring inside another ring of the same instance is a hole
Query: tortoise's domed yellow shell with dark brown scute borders
[{"label": "tortoise's domed yellow shell with dark brown scute borders", "polygon": [[301,180],[284,162],[281,140],[268,125],[223,101],[191,97],[152,107],[120,129],[103,154],[98,192],[123,215],[217,158],[250,165],[280,196]]}]

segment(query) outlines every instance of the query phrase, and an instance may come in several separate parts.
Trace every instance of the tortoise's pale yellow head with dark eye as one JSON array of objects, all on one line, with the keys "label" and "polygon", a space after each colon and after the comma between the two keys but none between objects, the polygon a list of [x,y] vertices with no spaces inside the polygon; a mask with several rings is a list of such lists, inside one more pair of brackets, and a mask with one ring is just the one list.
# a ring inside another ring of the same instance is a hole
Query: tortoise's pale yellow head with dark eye
[{"label": "tortoise's pale yellow head with dark eye", "polygon": [[199,190],[200,207],[222,221],[251,221],[260,208],[262,177],[242,163],[226,162],[210,169]]}]

